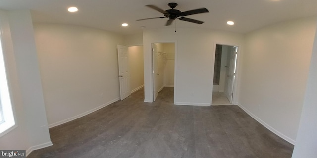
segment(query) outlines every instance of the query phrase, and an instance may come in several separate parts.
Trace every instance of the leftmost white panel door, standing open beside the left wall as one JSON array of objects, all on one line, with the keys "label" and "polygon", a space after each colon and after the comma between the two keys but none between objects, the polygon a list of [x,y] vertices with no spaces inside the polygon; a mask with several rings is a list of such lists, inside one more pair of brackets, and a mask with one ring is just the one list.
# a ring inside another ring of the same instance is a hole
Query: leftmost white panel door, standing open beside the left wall
[{"label": "leftmost white panel door, standing open beside the left wall", "polygon": [[123,45],[118,45],[118,64],[119,64],[119,81],[120,81],[120,99],[121,100],[131,95],[128,59],[129,59],[128,47]]}]

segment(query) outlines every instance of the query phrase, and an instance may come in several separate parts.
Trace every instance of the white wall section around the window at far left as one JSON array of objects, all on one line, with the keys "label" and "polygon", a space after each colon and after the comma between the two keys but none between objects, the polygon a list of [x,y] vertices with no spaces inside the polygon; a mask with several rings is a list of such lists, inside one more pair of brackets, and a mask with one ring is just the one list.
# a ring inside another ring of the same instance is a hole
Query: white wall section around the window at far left
[{"label": "white wall section around the window at far left", "polygon": [[0,149],[32,150],[52,145],[34,41],[31,13],[1,11],[1,33],[16,128],[0,138]]}]

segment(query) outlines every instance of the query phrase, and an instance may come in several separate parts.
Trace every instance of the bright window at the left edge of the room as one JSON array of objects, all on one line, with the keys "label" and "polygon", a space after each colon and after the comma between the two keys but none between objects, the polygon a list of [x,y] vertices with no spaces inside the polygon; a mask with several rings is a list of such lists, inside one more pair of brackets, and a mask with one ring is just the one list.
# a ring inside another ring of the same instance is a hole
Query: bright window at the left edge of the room
[{"label": "bright window at the left edge of the room", "polygon": [[0,136],[15,125],[0,36]]}]

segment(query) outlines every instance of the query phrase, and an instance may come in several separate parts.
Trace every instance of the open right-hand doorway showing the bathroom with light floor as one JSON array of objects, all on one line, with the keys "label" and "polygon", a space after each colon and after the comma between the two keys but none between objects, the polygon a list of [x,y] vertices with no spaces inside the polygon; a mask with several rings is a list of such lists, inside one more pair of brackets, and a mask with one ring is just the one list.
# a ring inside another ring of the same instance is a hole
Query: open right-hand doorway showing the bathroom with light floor
[{"label": "open right-hand doorway showing the bathroom with light floor", "polygon": [[211,105],[232,105],[238,47],[216,44]]}]

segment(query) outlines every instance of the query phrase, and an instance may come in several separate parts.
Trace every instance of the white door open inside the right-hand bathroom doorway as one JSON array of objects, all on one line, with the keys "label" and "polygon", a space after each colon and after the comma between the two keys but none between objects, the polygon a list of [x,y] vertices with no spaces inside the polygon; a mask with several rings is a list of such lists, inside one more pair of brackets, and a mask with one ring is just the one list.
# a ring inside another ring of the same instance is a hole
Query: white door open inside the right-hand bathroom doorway
[{"label": "white door open inside the right-hand bathroom doorway", "polygon": [[235,79],[235,69],[236,69],[236,57],[238,48],[235,46],[229,47],[228,59],[227,59],[227,70],[226,70],[226,86],[225,94],[232,103],[233,97],[233,84]]}]

